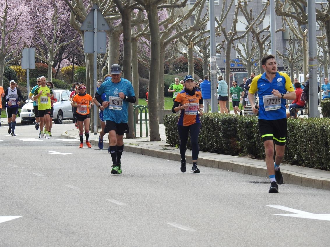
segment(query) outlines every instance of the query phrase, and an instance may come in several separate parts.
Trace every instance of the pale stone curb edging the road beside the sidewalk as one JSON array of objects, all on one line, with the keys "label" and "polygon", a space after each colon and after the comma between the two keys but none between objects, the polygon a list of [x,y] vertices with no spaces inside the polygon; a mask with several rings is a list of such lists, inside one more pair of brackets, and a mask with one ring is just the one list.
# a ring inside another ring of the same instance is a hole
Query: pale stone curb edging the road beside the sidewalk
[{"label": "pale stone curb edging the road beside the sidewalk", "polygon": [[[78,139],[78,138],[76,138],[76,136],[66,134],[66,133],[62,133],[61,138]],[[126,139],[126,140],[129,140],[129,139]],[[92,143],[94,146],[97,147],[97,145],[98,145],[97,140],[89,140],[89,141],[90,141],[90,143]],[[125,143],[125,139],[124,139],[124,143]],[[104,142],[103,145],[104,145],[103,149],[107,149],[109,147],[108,142]],[[175,150],[177,153],[173,152]],[[126,141],[124,151],[133,152],[133,153],[142,154],[142,155],[148,155],[151,157],[174,160],[174,161],[178,161],[181,159],[179,149],[167,147],[167,146],[164,146],[164,150],[156,150],[156,149],[151,149],[150,147],[146,148],[146,147],[140,147],[138,145],[131,145],[131,144],[128,144]],[[169,151],[171,151],[171,153],[169,153]],[[208,154],[207,152],[201,152],[201,151],[200,151],[200,153]],[[190,155],[186,154],[186,160],[188,163],[192,163],[191,154]],[[253,159],[251,159],[251,160],[253,160]],[[256,161],[260,161],[260,160],[256,160]],[[205,158],[203,156],[198,157],[198,165],[200,165],[200,166],[212,167],[212,168],[227,170],[227,171],[231,171],[231,172],[237,172],[237,173],[267,178],[267,168],[264,164],[265,161],[260,161],[260,163],[262,163],[262,164],[256,165],[256,164],[235,162],[232,160],[219,160],[219,159],[211,158],[211,157],[207,157],[207,158]],[[287,165],[287,166],[295,167],[294,165]],[[281,173],[283,175],[283,180],[285,181],[284,184],[295,184],[295,185],[301,185],[301,186],[311,187],[311,188],[315,188],[315,189],[330,190],[330,179],[328,179],[328,178],[319,178],[319,177],[314,177],[314,176],[302,175],[300,173],[286,171],[284,168],[283,168],[283,170],[281,170]]]}]

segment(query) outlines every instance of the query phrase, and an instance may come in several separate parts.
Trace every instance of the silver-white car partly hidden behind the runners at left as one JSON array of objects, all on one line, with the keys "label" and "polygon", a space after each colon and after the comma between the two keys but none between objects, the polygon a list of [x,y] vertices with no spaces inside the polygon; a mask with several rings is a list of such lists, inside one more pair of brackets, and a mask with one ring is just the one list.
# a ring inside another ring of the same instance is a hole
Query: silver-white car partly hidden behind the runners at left
[{"label": "silver-white car partly hidden behind the runners at left", "polygon": [[[69,100],[71,92],[69,90],[54,89],[57,102],[54,103],[53,121],[55,124],[62,124],[65,119],[73,120],[71,101]],[[35,122],[33,110],[33,101],[30,99],[23,105],[20,113],[22,125]]]}]

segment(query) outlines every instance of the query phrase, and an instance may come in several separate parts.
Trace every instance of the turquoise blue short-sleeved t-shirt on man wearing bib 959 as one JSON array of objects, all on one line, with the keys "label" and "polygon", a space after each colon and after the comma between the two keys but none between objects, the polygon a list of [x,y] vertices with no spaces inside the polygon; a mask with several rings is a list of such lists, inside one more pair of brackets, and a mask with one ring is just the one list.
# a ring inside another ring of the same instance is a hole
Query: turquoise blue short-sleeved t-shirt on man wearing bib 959
[{"label": "turquoise blue short-sleeved t-shirt on man wearing bib 959", "polygon": [[[121,78],[120,82],[114,83],[111,79],[102,83],[97,90],[97,94],[105,94],[106,101],[109,101],[109,96],[119,97],[119,93],[122,92],[127,96],[135,96],[133,86],[130,81]],[[128,101],[122,100],[122,109],[115,110],[105,108],[103,111],[103,119],[114,121],[116,124],[128,122]]]}]

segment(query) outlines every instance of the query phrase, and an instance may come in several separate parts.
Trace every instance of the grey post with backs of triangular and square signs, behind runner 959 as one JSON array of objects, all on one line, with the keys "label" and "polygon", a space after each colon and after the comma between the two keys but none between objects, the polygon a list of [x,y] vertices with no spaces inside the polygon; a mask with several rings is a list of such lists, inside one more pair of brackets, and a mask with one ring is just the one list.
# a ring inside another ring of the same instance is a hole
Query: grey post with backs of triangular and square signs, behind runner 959
[{"label": "grey post with backs of triangular and square signs, behind runner 959", "polygon": [[[82,31],[93,31],[84,32],[84,52],[94,54],[94,68],[93,68],[93,88],[96,92],[97,82],[97,53],[106,52],[106,33],[99,31],[108,31],[110,27],[102,15],[99,7],[94,4],[91,11],[87,14],[86,19],[83,21],[80,30]],[[93,37],[93,38],[92,38]],[[100,68],[101,69],[101,68]],[[91,92],[95,94],[95,92]],[[93,127],[94,134],[96,135],[97,128],[97,107],[94,104],[93,107]]]}]

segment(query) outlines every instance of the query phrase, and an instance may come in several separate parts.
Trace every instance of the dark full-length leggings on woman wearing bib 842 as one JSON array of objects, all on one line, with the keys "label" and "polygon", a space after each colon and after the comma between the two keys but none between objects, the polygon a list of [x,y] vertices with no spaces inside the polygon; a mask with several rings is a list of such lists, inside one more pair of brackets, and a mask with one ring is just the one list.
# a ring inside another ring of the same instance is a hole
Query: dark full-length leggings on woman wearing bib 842
[{"label": "dark full-length leggings on woman wearing bib 842", "polygon": [[191,139],[191,156],[192,160],[198,159],[199,147],[198,147],[198,136],[201,129],[201,123],[191,124],[189,126],[178,125],[178,131],[180,136],[180,155],[181,160],[185,158],[185,151],[188,141],[188,132],[190,131]]}]

